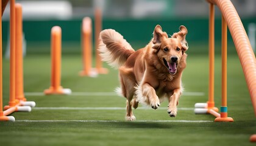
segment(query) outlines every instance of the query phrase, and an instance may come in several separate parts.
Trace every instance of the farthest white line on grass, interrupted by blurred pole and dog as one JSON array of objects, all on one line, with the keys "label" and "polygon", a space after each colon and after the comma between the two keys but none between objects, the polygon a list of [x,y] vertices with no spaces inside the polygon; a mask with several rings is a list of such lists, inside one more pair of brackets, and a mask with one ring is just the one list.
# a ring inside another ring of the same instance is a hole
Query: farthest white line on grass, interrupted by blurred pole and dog
[{"label": "farthest white line on grass, interrupted by blurred pole and dog", "polygon": [[[204,96],[204,92],[183,92],[182,96]],[[25,96],[44,96],[43,92],[25,92]],[[118,96],[116,92],[72,92],[70,96]]]}]

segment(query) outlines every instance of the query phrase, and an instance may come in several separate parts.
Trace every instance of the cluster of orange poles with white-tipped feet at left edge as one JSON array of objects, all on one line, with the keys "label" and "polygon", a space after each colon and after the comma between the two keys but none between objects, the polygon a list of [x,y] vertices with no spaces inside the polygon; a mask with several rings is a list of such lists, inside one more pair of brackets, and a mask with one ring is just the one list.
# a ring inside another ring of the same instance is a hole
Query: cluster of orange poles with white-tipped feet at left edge
[{"label": "cluster of orange poles with white-tipped feet at left edge", "polygon": [[10,1],[10,99],[9,105],[4,106],[4,111],[2,108],[2,23],[0,30],[0,121],[15,121],[15,117],[8,115],[15,111],[30,112],[31,106],[35,106],[35,102],[26,102],[23,92],[22,8],[20,4],[15,4],[15,0]]}]

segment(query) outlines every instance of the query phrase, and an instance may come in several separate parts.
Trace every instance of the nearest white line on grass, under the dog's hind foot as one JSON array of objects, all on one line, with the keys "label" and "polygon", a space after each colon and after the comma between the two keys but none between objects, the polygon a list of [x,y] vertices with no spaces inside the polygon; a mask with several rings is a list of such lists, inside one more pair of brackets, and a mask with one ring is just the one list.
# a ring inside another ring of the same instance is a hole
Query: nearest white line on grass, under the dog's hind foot
[{"label": "nearest white line on grass, under the dog's hind foot", "polygon": [[[119,120],[15,120],[15,122],[126,122]],[[183,122],[183,123],[205,123],[212,120],[135,120],[133,122]]]}]

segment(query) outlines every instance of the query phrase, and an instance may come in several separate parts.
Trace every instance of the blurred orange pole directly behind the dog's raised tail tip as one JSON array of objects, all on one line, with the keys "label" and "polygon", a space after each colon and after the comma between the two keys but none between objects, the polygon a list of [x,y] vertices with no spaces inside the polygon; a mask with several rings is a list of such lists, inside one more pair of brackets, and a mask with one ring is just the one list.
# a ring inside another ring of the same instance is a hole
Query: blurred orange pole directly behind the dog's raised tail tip
[{"label": "blurred orange pole directly behind the dog's raised tail tip", "polygon": [[102,14],[101,14],[101,9],[96,8],[95,9],[95,21],[94,21],[94,26],[95,26],[95,50],[96,50],[96,69],[99,74],[107,74],[108,70],[106,68],[102,68],[102,61],[101,61],[101,56],[99,55],[99,33],[101,33],[102,30]]}]

